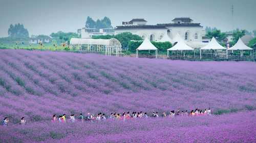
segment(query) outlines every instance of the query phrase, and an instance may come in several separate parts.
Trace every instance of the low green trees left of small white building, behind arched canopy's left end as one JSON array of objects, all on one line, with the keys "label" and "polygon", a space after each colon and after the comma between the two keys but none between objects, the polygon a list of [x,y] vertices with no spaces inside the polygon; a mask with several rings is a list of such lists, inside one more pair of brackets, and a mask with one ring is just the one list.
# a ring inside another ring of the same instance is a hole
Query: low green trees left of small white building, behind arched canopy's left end
[{"label": "low green trees left of small white building, behind arched canopy's left end", "polygon": [[68,42],[70,41],[71,38],[79,38],[77,33],[74,33],[74,32],[65,33],[62,31],[58,31],[57,33],[52,33],[50,36],[53,37],[54,39],[60,39]]}]

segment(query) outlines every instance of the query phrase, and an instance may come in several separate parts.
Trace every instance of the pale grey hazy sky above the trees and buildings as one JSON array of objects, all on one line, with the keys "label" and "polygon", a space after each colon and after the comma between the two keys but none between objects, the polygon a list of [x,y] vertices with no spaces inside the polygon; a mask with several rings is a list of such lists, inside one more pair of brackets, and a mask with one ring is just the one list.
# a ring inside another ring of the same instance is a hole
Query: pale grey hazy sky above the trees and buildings
[{"label": "pale grey hazy sky above the trees and buildings", "polygon": [[23,23],[29,35],[84,27],[87,16],[94,20],[110,17],[113,26],[132,18],[145,18],[148,24],[169,23],[175,17],[190,17],[202,26],[256,29],[256,0],[0,0],[0,37],[8,36],[11,23]]}]

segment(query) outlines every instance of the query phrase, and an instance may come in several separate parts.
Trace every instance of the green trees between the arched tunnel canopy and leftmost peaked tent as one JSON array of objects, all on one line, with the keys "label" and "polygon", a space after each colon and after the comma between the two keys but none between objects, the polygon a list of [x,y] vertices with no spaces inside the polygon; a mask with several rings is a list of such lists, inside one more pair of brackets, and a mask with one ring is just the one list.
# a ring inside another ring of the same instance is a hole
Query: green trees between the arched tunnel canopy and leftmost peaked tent
[{"label": "green trees between the arched tunnel canopy and leftmost peaked tent", "polygon": [[128,47],[128,43],[131,40],[142,40],[139,35],[132,34],[130,32],[119,33],[117,35],[100,35],[100,36],[93,36],[93,39],[111,39],[116,38],[122,44],[122,48],[126,49]]}]

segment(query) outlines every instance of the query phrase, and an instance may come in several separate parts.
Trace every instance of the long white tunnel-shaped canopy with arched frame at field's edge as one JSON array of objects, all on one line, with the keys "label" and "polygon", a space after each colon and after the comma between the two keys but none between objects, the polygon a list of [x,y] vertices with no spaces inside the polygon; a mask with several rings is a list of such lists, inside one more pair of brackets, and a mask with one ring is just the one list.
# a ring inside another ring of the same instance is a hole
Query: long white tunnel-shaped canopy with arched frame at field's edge
[{"label": "long white tunnel-shaped canopy with arched frame at field's edge", "polygon": [[[96,49],[97,50],[94,50]],[[94,51],[94,52],[105,52],[105,55],[111,56],[115,54],[119,56],[122,53],[121,43],[115,39],[91,39],[91,38],[71,38],[70,39],[70,51]]]}]

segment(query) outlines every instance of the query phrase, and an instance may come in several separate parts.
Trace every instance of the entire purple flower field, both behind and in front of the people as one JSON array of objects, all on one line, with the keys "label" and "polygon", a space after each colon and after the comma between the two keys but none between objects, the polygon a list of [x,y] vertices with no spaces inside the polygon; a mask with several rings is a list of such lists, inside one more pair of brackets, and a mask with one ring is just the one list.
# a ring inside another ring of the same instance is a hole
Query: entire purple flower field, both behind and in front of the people
[{"label": "entire purple flower field, both behind and in front of the people", "polygon": [[[255,142],[256,63],[1,50],[0,142]],[[52,124],[53,114],[192,110],[211,116]],[[220,115],[221,114],[221,115]],[[28,120],[18,125],[20,117]],[[154,135],[152,135],[154,134]],[[196,136],[196,137],[195,137]]]}]

